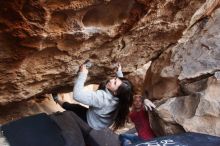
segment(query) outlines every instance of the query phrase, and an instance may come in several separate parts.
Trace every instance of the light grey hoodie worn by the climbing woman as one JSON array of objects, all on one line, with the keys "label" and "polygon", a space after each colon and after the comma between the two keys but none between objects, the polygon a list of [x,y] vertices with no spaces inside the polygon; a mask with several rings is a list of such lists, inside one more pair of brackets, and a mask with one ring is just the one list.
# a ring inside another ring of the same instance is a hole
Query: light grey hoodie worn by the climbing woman
[{"label": "light grey hoodie worn by the climbing woman", "polygon": [[[118,77],[123,77],[121,71],[117,71]],[[110,91],[105,90],[87,91],[84,89],[87,74],[80,72],[75,81],[73,89],[73,98],[89,106],[87,111],[87,122],[90,127],[100,130],[112,125],[118,105],[118,98],[114,97]]]}]

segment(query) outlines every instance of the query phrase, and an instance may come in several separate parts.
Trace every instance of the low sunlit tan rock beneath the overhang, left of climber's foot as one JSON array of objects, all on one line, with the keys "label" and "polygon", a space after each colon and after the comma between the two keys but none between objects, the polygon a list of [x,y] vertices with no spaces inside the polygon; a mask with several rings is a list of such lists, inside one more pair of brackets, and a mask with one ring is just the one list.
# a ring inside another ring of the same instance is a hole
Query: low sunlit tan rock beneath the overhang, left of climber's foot
[{"label": "low sunlit tan rock beneath the overhang, left of climber's foot", "polygon": [[42,112],[51,114],[57,111],[64,111],[64,109],[56,104],[53,101],[52,97],[41,96],[38,98],[14,102],[5,106],[1,106],[0,111],[0,125],[2,125],[10,121],[20,119],[22,117]]}]

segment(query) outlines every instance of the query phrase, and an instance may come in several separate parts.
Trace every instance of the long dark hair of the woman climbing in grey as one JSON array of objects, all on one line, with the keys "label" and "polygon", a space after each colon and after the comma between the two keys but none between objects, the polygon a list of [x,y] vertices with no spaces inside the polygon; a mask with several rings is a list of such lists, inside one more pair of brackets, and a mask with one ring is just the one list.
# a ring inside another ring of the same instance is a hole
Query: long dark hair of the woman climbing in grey
[{"label": "long dark hair of the woman climbing in grey", "polygon": [[119,98],[117,115],[113,124],[113,130],[117,130],[125,125],[129,114],[129,107],[133,102],[133,85],[126,78],[119,78],[122,84],[119,86],[116,97]]}]

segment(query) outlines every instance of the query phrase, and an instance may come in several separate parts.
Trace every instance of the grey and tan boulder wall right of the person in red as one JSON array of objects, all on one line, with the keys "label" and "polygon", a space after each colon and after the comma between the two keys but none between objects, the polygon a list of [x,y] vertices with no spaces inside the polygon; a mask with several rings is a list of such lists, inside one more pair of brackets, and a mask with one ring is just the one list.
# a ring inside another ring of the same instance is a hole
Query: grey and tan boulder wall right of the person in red
[{"label": "grey and tan boulder wall right of the person in red", "polygon": [[178,43],[153,61],[146,74],[148,98],[161,99],[152,114],[153,121],[162,123],[157,133],[220,136],[219,6],[219,0],[207,0]]}]

